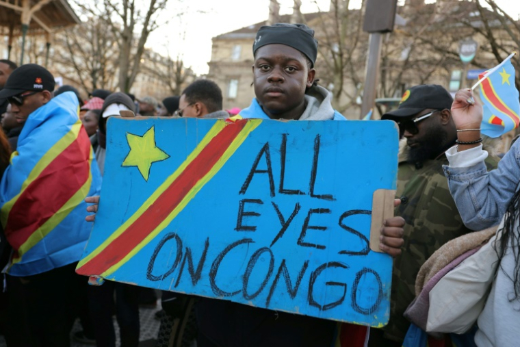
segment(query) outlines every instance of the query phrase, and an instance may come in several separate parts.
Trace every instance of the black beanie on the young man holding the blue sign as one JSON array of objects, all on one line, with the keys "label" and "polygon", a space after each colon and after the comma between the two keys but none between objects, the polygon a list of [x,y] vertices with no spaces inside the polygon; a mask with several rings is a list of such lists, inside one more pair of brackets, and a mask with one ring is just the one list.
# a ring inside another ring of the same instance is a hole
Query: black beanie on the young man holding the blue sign
[{"label": "black beanie on the young man holding the blue sign", "polygon": [[264,25],[257,32],[257,38],[252,44],[252,53],[268,44],[285,44],[297,49],[311,60],[312,66],[317,57],[317,40],[314,30],[304,24],[276,23]]}]

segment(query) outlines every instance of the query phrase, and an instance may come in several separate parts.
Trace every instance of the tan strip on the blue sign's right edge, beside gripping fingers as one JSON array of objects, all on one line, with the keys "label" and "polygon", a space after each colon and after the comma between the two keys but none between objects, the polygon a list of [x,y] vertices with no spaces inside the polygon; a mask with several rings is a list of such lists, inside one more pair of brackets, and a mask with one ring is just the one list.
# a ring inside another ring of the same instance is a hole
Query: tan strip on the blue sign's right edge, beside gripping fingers
[{"label": "tan strip on the blue sign's right edge, beside gripping fingers", "polygon": [[393,217],[393,201],[395,190],[378,189],[372,198],[372,224],[370,225],[370,249],[379,250],[379,237],[381,235],[382,222]]}]

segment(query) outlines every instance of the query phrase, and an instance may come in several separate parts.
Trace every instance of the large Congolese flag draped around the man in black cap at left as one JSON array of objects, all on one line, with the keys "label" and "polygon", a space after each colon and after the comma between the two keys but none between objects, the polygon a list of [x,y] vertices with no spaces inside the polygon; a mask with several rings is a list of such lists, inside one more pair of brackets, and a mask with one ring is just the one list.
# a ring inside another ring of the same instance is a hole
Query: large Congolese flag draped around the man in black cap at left
[{"label": "large Congolese flag draped around the man in black cap at left", "polygon": [[90,235],[84,198],[99,194],[101,175],[78,107],[66,92],[30,114],[2,177],[0,218],[13,276],[78,261]]}]

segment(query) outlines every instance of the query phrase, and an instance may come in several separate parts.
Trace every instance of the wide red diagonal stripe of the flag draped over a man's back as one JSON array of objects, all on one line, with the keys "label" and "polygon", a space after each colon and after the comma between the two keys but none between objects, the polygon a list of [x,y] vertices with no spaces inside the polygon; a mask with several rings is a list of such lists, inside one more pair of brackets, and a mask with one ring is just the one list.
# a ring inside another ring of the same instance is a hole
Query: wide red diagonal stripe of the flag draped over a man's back
[{"label": "wide red diagonal stripe of the flag draped over a man's back", "polygon": [[65,205],[90,175],[90,140],[78,137],[42,170],[16,199],[5,226],[5,237],[17,250]]}]

